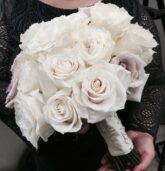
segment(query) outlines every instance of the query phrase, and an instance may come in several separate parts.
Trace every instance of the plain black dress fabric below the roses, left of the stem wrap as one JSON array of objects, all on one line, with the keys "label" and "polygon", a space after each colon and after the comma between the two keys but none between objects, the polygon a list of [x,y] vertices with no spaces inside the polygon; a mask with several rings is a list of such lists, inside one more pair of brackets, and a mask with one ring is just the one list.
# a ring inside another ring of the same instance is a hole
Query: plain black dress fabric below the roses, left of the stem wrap
[{"label": "plain black dress fabric below the roses, left of the stem wrap", "polygon": [[56,134],[29,153],[21,171],[96,171],[101,166],[107,148],[95,125],[83,135]]}]

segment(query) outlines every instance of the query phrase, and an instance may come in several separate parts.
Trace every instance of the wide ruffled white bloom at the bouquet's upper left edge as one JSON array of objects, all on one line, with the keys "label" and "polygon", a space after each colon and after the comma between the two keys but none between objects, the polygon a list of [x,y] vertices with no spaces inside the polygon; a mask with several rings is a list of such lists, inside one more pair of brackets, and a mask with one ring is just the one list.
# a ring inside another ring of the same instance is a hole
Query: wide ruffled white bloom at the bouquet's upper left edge
[{"label": "wide ruffled white bloom at the bouquet's upper left edge", "polygon": [[65,48],[73,45],[70,36],[73,30],[89,23],[89,17],[82,13],[60,16],[51,21],[33,24],[21,35],[20,48],[25,53],[49,51],[51,48]]}]

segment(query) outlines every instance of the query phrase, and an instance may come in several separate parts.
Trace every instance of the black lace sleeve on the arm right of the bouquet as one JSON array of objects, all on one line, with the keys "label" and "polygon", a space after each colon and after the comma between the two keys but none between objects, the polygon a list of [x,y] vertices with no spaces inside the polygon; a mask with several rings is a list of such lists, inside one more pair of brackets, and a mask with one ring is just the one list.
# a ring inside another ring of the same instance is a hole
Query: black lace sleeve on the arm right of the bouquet
[{"label": "black lace sleeve on the arm right of the bouquet", "polygon": [[[154,38],[159,41],[158,31],[146,10],[135,1],[135,20],[144,28],[149,29]],[[165,74],[162,67],[160,46],[155,48],[152,62],[146,67],[150,73],[144,88],[140,103],[128,102],[125,113],[127,115],[126,129],[147,132],[155,137],[159,125],[159,117],[163,113],[162,101],[165,97]]]}]

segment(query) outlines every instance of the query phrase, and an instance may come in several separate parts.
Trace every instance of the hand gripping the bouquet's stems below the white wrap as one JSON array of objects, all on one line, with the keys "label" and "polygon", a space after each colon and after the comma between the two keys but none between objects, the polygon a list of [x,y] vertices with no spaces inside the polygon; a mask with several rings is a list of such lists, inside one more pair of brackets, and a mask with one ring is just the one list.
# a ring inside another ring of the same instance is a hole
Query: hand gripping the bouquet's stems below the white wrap
[{"label": "hand gripping the bouquet's stems below the white wrap", "polygon": [[[141,155],[141,162],[133,169],[133,171],[145,171],[150,166],[155,156],[153,137],[148,133],[138,131],[128,131],[127,134],[132,139],[136,149]],[[98,171],[114,171],[110,169],[109,163],[109,155],[107,153],[101,159],[101,164],[103,166],[99,168]]]}]

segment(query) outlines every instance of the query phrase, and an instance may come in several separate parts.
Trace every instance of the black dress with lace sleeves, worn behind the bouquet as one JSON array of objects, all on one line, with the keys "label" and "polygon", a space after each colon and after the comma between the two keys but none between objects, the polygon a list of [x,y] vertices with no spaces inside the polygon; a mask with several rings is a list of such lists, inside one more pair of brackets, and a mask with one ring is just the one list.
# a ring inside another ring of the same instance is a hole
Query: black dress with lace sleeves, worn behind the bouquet
[{"label": "black dress with lace sleeves, worn behind the bouquet", "polygon": [[[138,0],[104,0],[123,6],[134,16],[132,22],[138,22],[149,29],[159,42],[157,29],[139,4]],[[46,5],[39,0],[0,0],[0,118],[28,145],[30,143],[21,135],[15,124],[14,110],[5,108],[6,88],[11,79],[10,67],[20,52],[20,34],[36,22],[48,21],[61,15],[69,15],[77,10],[64,10]],[[127,130],[148,132],[155,136],[159,116],[163,111],[165,98],[165,74],[162,69],[160,46],[155,48],[153,61],[146,67],[150,73],[145,86],[142,102],[127,102],[125,110],[119,116]],[[100,158],[106,151],[106,145],[95,126],[91,126],[85,135],[55,134],[47,143],[41,142],[34,151],[35,164],[26,167],[37,171],[95,171],[99,167]],[[33,156],[33,157],[34,157]],[[25,170],[25,168],[24,168]]]}]

